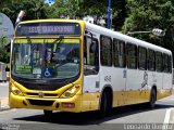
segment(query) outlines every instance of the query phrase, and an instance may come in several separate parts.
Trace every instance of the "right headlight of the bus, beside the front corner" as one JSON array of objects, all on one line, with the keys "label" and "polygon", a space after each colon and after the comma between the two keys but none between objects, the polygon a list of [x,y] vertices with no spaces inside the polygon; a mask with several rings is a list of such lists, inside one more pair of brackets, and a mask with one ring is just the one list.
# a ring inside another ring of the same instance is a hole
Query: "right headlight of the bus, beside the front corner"
[{"label": "right headlight of the bus, beside the front corner", "polygon": [[74,87],[67,89],[62,95],[61,98],[72,98],[74,96],[80,89],[79,84],[75,84]]}]

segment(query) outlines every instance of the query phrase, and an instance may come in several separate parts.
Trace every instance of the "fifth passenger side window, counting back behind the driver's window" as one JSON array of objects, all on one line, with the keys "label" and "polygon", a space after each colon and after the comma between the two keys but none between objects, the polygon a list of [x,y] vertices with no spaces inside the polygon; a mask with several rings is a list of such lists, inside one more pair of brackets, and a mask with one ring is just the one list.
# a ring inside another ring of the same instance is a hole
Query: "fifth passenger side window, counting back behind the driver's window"
[{"label": "fifth passenger side window, counting back behind the driver's window", "polygon": [[153,50],[148,50],[148,69],[156,70],[156,55]]}]

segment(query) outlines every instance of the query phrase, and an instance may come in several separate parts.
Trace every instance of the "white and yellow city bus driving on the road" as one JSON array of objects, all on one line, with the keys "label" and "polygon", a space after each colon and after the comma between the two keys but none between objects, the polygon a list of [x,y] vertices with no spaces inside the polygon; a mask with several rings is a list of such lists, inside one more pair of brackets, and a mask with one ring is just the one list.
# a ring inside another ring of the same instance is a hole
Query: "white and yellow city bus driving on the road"
[{"label": "white and yellow city bus driving on the road", "polygon": [[12,108],[104,116],[172,94],[172,52],[80,20],[21,22],[11,47]]}]

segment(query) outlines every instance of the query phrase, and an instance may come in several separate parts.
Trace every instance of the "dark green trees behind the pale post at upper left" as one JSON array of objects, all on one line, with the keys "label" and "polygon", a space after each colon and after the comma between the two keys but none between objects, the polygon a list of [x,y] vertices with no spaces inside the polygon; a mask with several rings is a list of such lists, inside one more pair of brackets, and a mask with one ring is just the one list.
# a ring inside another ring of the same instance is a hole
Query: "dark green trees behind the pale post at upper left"
[{"label": "dark green trees behind the pale post at upper left", "polygon": [[47,18],[47,11],[44,0],[8,0],[2,3],[0,12],[10,16],[13,24],[21,10],[25,11],[25,20]]}]

